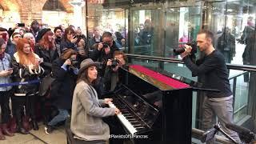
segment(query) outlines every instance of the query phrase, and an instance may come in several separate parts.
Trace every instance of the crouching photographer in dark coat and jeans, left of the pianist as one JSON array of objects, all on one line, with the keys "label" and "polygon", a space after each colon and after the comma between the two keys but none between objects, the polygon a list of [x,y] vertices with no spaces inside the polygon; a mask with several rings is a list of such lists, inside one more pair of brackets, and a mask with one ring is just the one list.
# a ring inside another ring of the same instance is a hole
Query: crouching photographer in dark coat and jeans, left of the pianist
[{"label": "crouching photographer in dark coat and jeans, left of the pianist", "polygon": [[72,96],[78,74],[77,52],[68,49],[53,62],[52,73],[54,82],[51,84],[50,97],[58,114],[45,127],[46,134],[51,134],[58,122],[70,117]]}]

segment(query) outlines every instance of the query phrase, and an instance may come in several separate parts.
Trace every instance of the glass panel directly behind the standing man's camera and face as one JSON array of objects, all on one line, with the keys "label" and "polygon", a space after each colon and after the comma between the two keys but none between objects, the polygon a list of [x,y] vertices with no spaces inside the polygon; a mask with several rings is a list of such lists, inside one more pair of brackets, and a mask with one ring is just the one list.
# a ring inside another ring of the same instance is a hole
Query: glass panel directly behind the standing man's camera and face
[{"label": "glass panel directly behind the standing man's camera and face", "polygon": [[201,25],[201,6],[166,9],[165,57],[180,58],[173,50],[196,40]]}]

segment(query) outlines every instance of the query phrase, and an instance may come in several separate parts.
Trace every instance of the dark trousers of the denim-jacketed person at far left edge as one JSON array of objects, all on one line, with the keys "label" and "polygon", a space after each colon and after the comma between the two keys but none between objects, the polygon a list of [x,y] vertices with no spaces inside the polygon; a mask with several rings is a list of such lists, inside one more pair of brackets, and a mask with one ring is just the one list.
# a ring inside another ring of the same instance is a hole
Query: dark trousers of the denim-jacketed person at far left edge
[{"label": "dark trousers of the denim-jacketed person at far left edge", "polygon": [[13,94],[12,90],[0,91],[2,123],[7,123],[10,119],[10,107],[9,107],[10,94]]}]

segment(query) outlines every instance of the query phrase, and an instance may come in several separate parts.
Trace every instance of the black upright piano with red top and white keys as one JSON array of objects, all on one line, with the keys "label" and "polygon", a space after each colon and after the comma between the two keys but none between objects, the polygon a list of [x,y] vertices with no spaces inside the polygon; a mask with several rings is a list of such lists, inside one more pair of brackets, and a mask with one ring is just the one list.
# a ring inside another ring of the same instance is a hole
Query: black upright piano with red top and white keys
[{"label": "black upright piano with red top and white keys", "polygon": [[194,82],[138,65],[118,72],[118,90],[107,97],[122,112],[114,123],[122,126],[120,135],[130,143],[191,143]]}]

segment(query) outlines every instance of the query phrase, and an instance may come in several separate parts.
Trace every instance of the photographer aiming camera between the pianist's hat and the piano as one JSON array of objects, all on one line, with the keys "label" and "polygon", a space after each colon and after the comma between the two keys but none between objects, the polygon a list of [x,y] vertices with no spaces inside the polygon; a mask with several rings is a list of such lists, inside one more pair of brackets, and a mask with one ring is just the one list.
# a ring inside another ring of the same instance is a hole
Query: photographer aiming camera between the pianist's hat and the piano
[{"label": "photographer aiming camera between the pianist's hat and the piano", "polygon": [[127,68],[126,54],[122,51],[115,51],[114,58],[106,62],[106,70],[104,74],[105,91],[113,91],[118,83],[118,68]]}]

